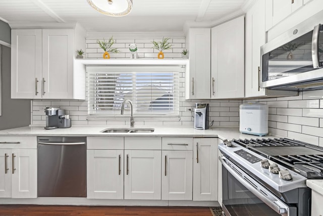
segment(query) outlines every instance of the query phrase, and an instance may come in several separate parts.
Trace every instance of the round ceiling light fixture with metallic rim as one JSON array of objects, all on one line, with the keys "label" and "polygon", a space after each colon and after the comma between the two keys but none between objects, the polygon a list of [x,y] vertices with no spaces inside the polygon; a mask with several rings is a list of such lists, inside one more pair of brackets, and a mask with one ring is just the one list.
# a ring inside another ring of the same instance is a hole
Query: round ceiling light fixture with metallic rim
[{"label": "round ceiling light fixture with metallic rim", "polygon": [[101,14],[122,17],[132,10],[132,0],[87,0],[88,4]]}]

